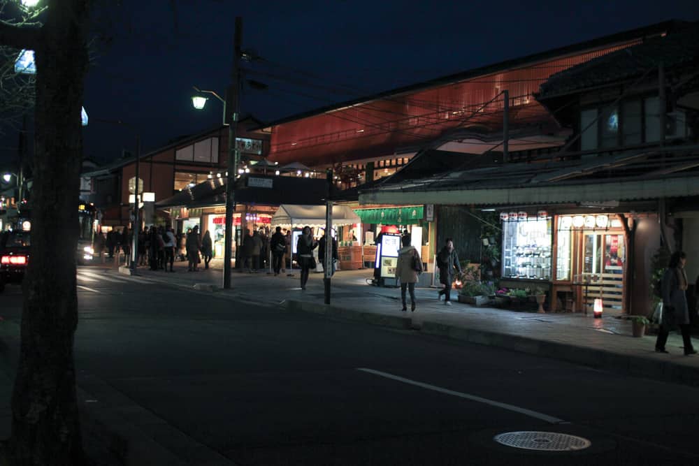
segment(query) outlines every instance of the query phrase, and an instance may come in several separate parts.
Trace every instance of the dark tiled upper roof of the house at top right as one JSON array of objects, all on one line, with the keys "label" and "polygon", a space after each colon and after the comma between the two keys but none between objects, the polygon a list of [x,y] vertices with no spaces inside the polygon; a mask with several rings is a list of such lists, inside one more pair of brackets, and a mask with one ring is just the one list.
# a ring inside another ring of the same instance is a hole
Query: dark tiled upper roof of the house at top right
[{"label": "dark tiled upper roof of the house at top right", "polygon": [[661,61],[668,71],[699,64],[698,22],[556,73],[541,85],[536,97],[538,100],[548,99],[630,80],[656,68]]}]

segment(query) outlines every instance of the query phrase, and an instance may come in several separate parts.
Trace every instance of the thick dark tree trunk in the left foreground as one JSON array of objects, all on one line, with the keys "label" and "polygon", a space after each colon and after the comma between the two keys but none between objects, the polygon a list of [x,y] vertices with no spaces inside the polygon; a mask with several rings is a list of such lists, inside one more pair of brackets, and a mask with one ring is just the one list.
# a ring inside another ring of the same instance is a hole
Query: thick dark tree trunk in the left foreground
[{"label": "thick dark tree trunk in the left foreground", "polygon": [[82,160],[80,107],[87,71],[88,0],[53,0],[36,57],[31,256],[24,282],[10,461],[82,465],[73,337]]}]

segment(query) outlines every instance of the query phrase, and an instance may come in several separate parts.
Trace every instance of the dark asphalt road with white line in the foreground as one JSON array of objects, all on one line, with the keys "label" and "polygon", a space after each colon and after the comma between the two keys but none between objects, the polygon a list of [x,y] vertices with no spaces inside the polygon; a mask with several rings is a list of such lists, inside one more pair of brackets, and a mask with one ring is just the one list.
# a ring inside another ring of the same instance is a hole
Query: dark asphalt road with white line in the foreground
[{"label": "dark asphalt road with white line in the foreground", "polygon": [[[699,464],[696,388],[96,270],[78,284],[80,377],[238,465]],[[17,319],[19,289],[0,300]],[[591,445],[493,441],[517,431]],[[177,451],[172,435],[152,435]],[[196,451],[177,453],[197,464]]]}]

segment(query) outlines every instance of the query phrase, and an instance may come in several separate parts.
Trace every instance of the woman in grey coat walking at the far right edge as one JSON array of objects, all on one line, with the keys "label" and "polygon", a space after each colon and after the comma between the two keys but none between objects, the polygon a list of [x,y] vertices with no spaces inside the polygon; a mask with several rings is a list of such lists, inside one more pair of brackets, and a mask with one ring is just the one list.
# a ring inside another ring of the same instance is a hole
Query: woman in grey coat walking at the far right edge
[{"label": "woman in grey coat walking at the far right edge", "polygon": [[663,274],[661,286],[663,298],[663,316],[656,340],[656,352],[668,353],[665,343],[668,341],[670,330],[679,326],[684,342],[684,356],[697,354],[692,346],[689,326],[689,307],[687,305],[687,273],[684,270],[687,256],[682,251],[672,253],[670,263]]}]

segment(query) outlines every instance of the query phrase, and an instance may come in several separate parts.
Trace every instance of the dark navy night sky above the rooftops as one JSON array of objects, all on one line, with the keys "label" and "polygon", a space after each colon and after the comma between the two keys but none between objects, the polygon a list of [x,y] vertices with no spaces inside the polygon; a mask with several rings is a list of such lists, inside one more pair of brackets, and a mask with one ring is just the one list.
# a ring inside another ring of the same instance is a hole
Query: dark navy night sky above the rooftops
[{"label": "dark navy night sky above the rooftops", "polygon": [[136,131],[147,152],[221,123],[218,101],[196,111],[189,99],[193,85],[224,94],[236,16],[243,48],[261,57],[245,64],[254,71],[245,78],[269,86],[246,87],[241,112],[263,121],[664,20],[699,20],[697,0],[114,3],[98,10],[95,32],[106,40],[94,44],[85,89],[85,155],[99,161],[133,150]]}]

